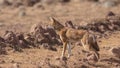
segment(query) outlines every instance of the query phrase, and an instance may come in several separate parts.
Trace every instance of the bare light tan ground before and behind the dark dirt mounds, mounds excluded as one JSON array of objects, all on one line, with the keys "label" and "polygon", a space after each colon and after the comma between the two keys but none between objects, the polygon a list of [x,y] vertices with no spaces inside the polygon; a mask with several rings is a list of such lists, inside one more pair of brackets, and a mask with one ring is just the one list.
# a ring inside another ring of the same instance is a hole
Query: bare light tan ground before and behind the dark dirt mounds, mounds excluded
[{"label": "bare light tan ground before and behind the dark dirt mounds, mounds excluded", "polygon": [[[49,25],[49,17],[53,16],[62,24],[71,20],[75,25],[83,21],[104,18],[109,11],[120,15],[120,5],[114,7],[103,7],[94,2],[79,2],[68,4],[45,5],[40,7],[26,7],[25,16],[21,16],[20,8],[0,8],[0,35],[5,30],[16,32],[29,32],[35,23]],[[86,62],[83,47],[75,45],[72,56],[67,61],[61,61],[62,48],[55,46],[57,51],[44,48],[23,49],[23,52],[12,52],[0,55],[0,68],[120,68],[120,58],[110,53],[110,49],[120,46],[120,31],[114,32],[108,38],[98,39],[100,46],[100,59],[98,62]],[[67,56],[67,54],[66,54]]]}]

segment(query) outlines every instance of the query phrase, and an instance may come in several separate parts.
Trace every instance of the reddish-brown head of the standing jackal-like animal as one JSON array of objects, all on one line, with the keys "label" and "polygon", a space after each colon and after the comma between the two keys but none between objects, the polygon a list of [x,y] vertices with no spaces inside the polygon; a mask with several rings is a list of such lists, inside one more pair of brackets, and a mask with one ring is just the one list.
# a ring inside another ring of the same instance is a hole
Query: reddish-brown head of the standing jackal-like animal
[{"label": "reddish-brown head of the standing jackal-like animal", "polygon": [[55,30],[59,31],[60,29],[64,28],[64,26],[62,24],[60,24],[60,22],[58,22],[53,17],[50,17],[50,20],[51,20],[50,24]]}]

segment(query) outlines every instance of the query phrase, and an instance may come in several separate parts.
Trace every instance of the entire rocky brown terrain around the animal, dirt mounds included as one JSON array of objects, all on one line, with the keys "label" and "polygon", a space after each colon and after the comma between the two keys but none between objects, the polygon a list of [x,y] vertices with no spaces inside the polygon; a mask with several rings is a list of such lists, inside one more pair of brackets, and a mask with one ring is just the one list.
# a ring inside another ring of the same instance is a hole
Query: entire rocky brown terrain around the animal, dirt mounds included
[{"label": "entire rocky brown terrain around the animal, dirt mounds included", "polygon": [[[119,0],[0,1],[1,68],[120,68]],[[69,59],[60,60],[62,44],[49,27],[50,16],[92,31],[100,46],[99,61],[86,56],[79,42]]]}]

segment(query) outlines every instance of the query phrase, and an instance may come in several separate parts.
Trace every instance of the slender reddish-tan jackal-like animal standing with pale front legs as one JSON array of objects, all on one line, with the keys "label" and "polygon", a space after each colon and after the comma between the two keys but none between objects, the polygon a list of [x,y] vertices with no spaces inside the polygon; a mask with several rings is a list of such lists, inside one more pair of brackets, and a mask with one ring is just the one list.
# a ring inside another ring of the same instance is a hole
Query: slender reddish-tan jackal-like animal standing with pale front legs
[{"label": "slender reddish-tan jackal-like animal standing with pale front legs", "polygon": [[55,29],[56,33],[59,35],[63,43],[63,51],[61,58],[65,57],[66,47],[68,47],[68,57],[70,57],[71,55],[70,43],[80,41],[86,51],[94,52],[97,59],[99,59],[98,51],[100,49],[94,34],[90,33],[88,30],[65,27],[53,17],[50,17],[50,20],[51,26],[53,26],[53,28]]}]

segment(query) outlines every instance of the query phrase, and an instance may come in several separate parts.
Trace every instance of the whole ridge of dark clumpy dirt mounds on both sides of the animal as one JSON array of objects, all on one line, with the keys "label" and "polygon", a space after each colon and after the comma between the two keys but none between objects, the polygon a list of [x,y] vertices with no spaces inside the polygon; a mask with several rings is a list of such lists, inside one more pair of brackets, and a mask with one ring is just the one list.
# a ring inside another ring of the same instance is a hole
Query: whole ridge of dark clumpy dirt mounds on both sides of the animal
[{"label": "whole ridge of dark clumpy dirt mounds on both sides of the animal", "polygon": [[[78,28],[74,26],[72,21],[66,21],[65,26],[88,30],[100,38],[120,30],[120,16],[110,11],[105,18],[93,20],[91,23],[78,26]],[[50,26],[42,26],[40,23],[34,24],[27,34],[6,31],[4,37],[0,38],[0,41],[9,44],[15,51],[21,51],[22,48],[39,47],[40,44],[45,49],[54,50],[51,44],[61,44],[55,30]]]}]

